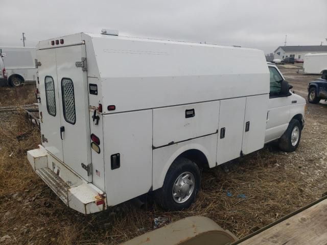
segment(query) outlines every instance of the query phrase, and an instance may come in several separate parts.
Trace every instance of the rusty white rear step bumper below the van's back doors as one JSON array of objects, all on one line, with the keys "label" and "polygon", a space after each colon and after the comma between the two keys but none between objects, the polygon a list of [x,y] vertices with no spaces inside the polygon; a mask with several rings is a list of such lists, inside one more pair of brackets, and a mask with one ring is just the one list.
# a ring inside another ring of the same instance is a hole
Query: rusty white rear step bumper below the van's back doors
[{"label": "rusty white rear step bumper below the van's back doors", "polygon": [[[35,173],[47,184],[61,201],[81,213],[96,213],[107,208],[105,193],[73,173],[63,163],[51,156],[42,145],[27,152]],[[56,174],[52,169],[58,166]]]}]

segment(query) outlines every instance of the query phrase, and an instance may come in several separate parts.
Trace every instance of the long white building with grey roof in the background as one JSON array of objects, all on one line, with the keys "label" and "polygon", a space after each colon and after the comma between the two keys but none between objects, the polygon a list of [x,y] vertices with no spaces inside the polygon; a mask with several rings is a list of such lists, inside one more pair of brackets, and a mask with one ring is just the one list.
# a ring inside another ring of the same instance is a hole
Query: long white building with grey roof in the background
[{"label": "long white building with grey roof in the background", "polygon": [[279,46],[274,51],[274,59],[285,59],[287,57],[294,57],[294,59],[305,58],[306,54],[327,53],[327,45],[317,46]]}]

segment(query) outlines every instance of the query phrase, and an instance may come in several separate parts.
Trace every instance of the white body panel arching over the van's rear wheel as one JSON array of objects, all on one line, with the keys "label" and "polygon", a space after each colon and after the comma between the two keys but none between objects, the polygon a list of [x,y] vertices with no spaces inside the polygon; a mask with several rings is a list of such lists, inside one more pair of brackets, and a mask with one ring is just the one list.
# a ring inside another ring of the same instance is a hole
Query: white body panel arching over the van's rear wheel
[{"label": "white body panel arching over the van's rear wheel", "polygon": [[155,149],[153,150],[153,190],[162,187],[173,161],[183,152],[192,149],[199,150],[206,156],[209,167],[216,166],[217,134]]}]

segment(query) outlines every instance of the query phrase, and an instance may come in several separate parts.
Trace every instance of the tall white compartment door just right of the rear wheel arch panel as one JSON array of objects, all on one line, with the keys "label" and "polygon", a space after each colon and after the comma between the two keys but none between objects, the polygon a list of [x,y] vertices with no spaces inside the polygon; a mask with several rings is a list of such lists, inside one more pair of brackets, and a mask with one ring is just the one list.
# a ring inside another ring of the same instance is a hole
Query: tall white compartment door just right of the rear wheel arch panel
[{"label": "tall white compartment door just right of the rear wheel arch panel", "polygon": [[[219,110],[219,135],[217,163],[238,158],[242,150],[243,125],[246,97],[222,100]],[[221,133],[225,128],[225,136]]]}]

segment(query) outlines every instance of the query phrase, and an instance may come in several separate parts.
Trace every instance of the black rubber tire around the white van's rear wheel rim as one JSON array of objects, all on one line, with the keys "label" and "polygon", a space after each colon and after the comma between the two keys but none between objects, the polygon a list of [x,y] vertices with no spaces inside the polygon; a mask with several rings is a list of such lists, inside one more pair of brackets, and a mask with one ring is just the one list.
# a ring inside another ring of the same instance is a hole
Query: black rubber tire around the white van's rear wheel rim
[{"label": "black rubber tire around the white van's rear wheel rim", "polygon": [[[174,184],[177,181],[178,177],[186,172],[191,173],[194,177],[194,189],[185,201],[183,201],[182,203],[178,203],[173,198]],[[196,165],[193,161],[187,158],[177,158],[168,169],[164,185],[155,192],[155,200],[165,210],[182,210],[189,208],[193,203],[197,192],[200,189],[200,182],[201,176],[198,165]]]}]

